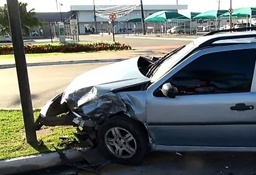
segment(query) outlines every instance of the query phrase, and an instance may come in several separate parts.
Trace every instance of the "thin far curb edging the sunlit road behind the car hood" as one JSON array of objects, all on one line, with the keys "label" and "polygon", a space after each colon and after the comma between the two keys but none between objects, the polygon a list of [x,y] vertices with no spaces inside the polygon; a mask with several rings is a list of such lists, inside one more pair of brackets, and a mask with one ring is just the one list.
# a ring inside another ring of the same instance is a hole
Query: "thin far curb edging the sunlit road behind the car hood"
[{"label": "thin far curb edging the sunlit road behind the car hood", "polygon": [[[33,62],[27,63],[27,67],[43,66],[43,65],[65,65],[65,64],[92,64],[92,63],[106,63],[106,62],[118,62],[127,60],[129,58],[117,58],[117,59],[101,59],[101,60],[75,60],[75,61],[52,61],[52,62]],[[14,68],[15,64],[2,64],[0,69]]]}]

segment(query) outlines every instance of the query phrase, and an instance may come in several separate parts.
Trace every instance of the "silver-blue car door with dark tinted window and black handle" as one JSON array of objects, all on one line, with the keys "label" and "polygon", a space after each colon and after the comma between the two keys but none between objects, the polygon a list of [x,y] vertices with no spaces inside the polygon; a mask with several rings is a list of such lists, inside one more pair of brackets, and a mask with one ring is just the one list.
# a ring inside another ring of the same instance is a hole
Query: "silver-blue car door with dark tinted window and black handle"
[{"label": "silver-blue car door with dark tinted window and black handle", "polygon": [[[255,48],[198,51],[148,88],[146,115],[156,149],[256,146]],[[176,98],[159,93],[168,82],[177,87]]]}]

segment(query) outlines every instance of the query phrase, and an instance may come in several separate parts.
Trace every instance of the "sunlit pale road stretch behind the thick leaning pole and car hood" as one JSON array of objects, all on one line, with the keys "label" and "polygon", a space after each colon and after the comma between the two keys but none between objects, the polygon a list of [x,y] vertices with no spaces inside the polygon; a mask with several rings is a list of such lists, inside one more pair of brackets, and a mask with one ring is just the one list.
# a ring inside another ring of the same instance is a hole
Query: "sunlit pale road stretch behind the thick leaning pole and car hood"
[{"label": "sunlit pale road stretch behind the thick leaning pole and car hood", "polygon": [[[39,108],[79,74],[106,64],[76,64],[28,67],[33,107]],[[0,70],[0,108],[20,107],[20,93],[15,68]]]}]

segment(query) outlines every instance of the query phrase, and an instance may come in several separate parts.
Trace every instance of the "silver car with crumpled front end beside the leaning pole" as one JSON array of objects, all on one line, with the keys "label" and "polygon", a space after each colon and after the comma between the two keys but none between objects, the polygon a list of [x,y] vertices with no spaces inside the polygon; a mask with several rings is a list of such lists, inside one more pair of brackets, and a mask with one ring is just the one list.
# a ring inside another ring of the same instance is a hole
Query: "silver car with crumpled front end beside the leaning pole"
[{"label": "silver car with crumpled front end beside the leaning pole", "polygon": [[80,75],[42,107],[37,129],[80,126],[120,164],[150,151],[255,152],[256,32],[228,31]]}]

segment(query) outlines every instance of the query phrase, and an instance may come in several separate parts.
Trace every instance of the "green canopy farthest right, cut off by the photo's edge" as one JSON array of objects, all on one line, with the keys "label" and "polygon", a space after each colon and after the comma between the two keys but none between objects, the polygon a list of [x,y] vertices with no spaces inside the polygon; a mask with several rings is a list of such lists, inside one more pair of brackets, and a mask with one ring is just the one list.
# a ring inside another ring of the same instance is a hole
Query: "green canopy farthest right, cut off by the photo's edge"
[{"label": "green canopy farthest right, cut off by the photo's edge", "polygon": [[[220,15],[220,18],[227,18],[229,17],[230,13],[225,12],[224,14]],[[251,24],[252,17],[256,17],[256,7],[245,7],[245,8],[236,8],[232,12],[232,17],[236,18],[244,18],[246,17],[246,21],[248,23],[248,18]]]}]

